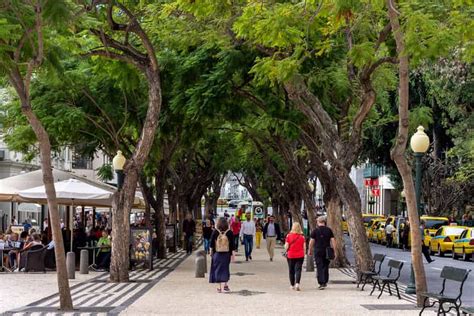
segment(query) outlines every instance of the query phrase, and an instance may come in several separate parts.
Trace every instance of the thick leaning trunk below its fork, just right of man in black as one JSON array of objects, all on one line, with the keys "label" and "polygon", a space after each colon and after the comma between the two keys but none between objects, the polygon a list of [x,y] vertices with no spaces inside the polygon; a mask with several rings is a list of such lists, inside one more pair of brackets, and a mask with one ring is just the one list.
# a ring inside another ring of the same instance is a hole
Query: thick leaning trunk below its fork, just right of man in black
[{"label": "thick leaning trunk below its fork, just right of man in black", "polygon": [[[345,170],[334,170],[337,192],[347,208],[347,223],[356,259],[357,271],[372,268],[372,253],[365,232],[359,191]],[[339,224],[340,225],[340,224]]]}]

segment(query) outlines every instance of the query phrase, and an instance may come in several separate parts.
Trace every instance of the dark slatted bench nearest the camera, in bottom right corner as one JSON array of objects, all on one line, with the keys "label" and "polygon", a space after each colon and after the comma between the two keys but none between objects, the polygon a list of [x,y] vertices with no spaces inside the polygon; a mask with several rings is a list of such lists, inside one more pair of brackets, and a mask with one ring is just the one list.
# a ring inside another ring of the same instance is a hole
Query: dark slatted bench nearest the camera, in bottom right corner
[{"label": "dark slatted bench nearest the camera, in bottom right corner", "polygon": [[[443,267],[443,270],[441,271],[441,275],[440,275],[440,277],[443,279],[443,286],[441,288],[441,291],[439,293],[431,293],[431,292],[420,293],[420,295],[424,297],[423,308],[420,311],[420,315],[423,313],[426,307],[433,307],[436,303],[439,304],[438,315],[440,314],[446,315],[446,313],[448,313],[451,309],[456,309],[456,312],[459,315],[459,310],[461,307],[462,288],[464,286],[464,282],[466,282],[469,272],[471,272],[471,270],[448,267],[448,266]],[[459,286],[459,293],[457,296],[448,296],[444,294],[444,289],[446,287],[446,280],[461,283]],[[426,305],[426,301],[428,301],[429,303],[430,298],[433,299],[433,303]],[[445,303],[451,304],[451,306],[449,306],[449,309],[447,311],[444,309],[444,306],[443,306]]]}]

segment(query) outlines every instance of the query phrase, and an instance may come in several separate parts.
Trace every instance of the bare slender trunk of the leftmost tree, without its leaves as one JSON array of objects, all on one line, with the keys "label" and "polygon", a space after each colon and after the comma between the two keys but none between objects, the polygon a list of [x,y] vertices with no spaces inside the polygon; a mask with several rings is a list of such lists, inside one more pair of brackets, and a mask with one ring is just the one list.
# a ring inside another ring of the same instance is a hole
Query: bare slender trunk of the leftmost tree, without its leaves
[{"label": "bare slender trunk of the leftmost tree, without its leaves", "polygon": [[33,132],[38,140],[41,159],[41,170],[43,172],[43,183],[45,186],[46,197],[48,200],[49,221],[54,241],[54,254],[56,256],[56,276],[59,292],[59,307],[63,311],[72,310],[72,298],[69,288],[69,281],[66,270],[66,257],[64,250],[64,241],[61,231],[61,223],[59,218],[58,204],[56,201],[56,190],[54,187],[53,169],[51,164],[51,142],[41,121],[31,108],[29,100],[29,91],[23,82],[23,78],[18,68],[13,68],[9,74],[9,80],[15,88],[21,104],[21,111],[27,118]]}]

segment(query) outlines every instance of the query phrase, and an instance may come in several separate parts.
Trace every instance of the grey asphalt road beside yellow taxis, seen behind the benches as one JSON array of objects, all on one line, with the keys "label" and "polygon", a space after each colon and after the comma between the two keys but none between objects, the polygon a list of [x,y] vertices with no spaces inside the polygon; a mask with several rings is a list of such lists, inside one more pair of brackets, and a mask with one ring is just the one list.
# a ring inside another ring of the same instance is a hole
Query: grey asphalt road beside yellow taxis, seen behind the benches
[{"label": "grey asphalt road beside yellow taxis, seen behind the benches", "polygon": [[[395,248],[387,248],[382,245],[371,243],[372,253],[383,253],[387,256],[384,263],[382,264],[382,274],[388,273],[387,269],[387,259],[393,258],[396,260],[404,261],[405,265],[402,269],[402,275],[400,277],[400,281],[404,284],[408,284],[408,280],[410,278],[410,263],[411,263],[411,255],[408,251],[402,251],[400,249]],[[349,261],[354,264],[354,254],[352,251],[352,246],[350,239],[346,236],[346,252]],[[428,282],[428,290],[430,292],[439,292],[441,290],[442,282],[440,279],[440,273],[444,266],[452,266],[456,268],[462,269],[470,269],[473,270],[469,277],[464,283],[463,288],[463,295],[461,297],[463,306],[474,306],[474,262],[472,261],[462,261],[462,260],[453,260],[451,258],[451,254],[446,254],[445,257],[438,257],[432,256],[435,259],[434,262],[428,264],[426,261],[425,263],[425,273]],[[446,282],[446,291],[445,294],[457,295],[459,291],[459,283],[454,282],[448,284]]]}]

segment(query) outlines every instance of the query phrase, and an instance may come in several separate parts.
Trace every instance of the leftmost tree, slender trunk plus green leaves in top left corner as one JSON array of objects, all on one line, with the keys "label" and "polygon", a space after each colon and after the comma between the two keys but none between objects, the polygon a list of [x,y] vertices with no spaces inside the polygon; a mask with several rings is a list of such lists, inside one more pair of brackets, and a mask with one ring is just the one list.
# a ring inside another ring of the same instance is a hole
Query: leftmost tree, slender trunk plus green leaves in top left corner
[{"label": "leftmost tree, slender trunk plus green leaves in top left corner", "polygon": [[[46,188],[53,240],[55,242],[59,304],[72,310],[66,271],[64,243],[51,164],[51,142],[47,131],[33,111],[30,86],[35,73],[54,53],[49,39],[57,36],[59,21],[67,21],[70,8],[64,1],[9,1],[0,6],[0,75],[14,88],[21,112],[28,120],[38,142],[43,183]],[[56,33],[56,34],[55,34]]]}]

